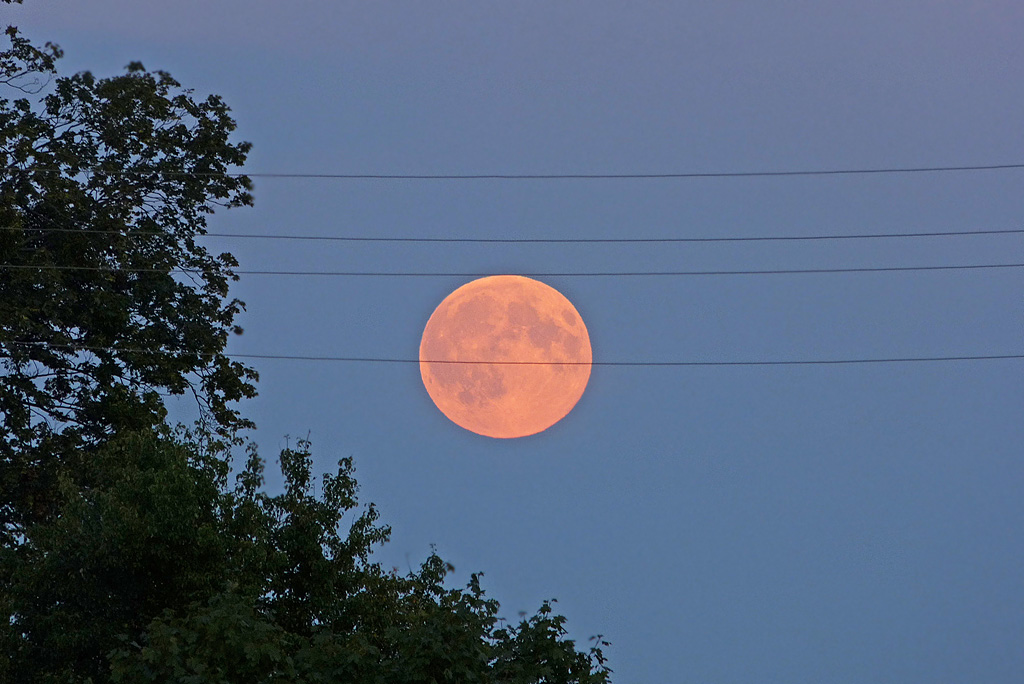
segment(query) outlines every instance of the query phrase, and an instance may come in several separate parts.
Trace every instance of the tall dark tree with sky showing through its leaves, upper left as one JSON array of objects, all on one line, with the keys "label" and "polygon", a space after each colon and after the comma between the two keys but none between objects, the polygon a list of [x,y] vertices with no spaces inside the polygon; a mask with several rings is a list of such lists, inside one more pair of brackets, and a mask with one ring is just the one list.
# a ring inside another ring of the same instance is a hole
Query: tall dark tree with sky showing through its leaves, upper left
[{"label": "tall dark tree with sky showing through its leaves, upper left", "polygon": [[[8,1],[9,0],[5,0]],[[243,303],[237,266],[198,242],[218,207],[252,204],[234,121],[165,72],[33,75],[59,48],[13,27],[0,52],[0,538],[45,519],[57,474],[119,429],[161,425],[161,393],[190,392],[229,439],[256,374],[224,354]],[[37,83],[37,86],[33,86]]]}]

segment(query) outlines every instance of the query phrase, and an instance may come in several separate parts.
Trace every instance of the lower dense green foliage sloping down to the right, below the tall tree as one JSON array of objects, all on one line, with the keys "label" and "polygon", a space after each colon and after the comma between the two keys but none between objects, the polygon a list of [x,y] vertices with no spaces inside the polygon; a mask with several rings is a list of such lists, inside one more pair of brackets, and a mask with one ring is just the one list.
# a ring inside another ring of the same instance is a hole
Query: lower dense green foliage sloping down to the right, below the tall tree
[{"label": "lower dense green foliage sloping down to the right, below the tall tree", "polygon": [[186,442],[110,441],[90,464],[96,486],[62,482],[61,516],[0,556],[13,578],[0,679],[607,681],[604,642],[578,650],[550,603],[507,626],[479,574],[447,589],[435,554],[404,576],[373,562],[389,529],[359,508],[350,459],[319,496],[307,442],[281,465],[271,497],[254,451],[227,486],[223,462]]}]

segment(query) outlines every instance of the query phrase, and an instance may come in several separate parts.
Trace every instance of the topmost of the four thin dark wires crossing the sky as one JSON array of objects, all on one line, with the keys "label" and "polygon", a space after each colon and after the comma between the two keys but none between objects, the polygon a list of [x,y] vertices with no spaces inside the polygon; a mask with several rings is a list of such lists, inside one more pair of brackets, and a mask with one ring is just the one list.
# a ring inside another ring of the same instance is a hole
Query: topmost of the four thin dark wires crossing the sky
[{"label": "topmost of the four thin dark wires crossing the sky", "polygon": [[[5,167],[17,169],[15,166]],[[160,171],[156,169],[136,171],[130,169],[103,170],[97,167],[82,169],[100,175],[146,175],[161,176],[248,176],[250,178],[327,178],[338,180],[647,180],[657,178],[757,178],[772,176],[839,176],[887,173],[937,173],[965,171],[1000,171],[1024,169],[1024,164],[985,164],[978,166],[923,166],[887,167],[870,169],[824,169],[803,171],[726,171],[694,173],[466,173],[466,174],[406,174],[406,173],[229,173],[213,171]],[[62,173],[60,169],[20,169],[43,173]]]}]

